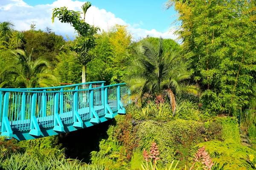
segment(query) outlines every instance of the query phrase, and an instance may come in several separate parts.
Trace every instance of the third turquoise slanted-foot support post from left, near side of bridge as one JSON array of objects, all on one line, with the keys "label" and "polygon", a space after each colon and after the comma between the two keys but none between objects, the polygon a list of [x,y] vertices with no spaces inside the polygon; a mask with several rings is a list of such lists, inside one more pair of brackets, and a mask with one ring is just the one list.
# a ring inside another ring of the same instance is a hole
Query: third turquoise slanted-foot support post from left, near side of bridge
[{"label": "third turquoise slanted-foot support post from left, near side of bridge", "polygon": [[54,131],[59,131],[59,132],[64,132],[64,126],[61,122],[61,118],[58,114],[58,99],[59,94],[58,93],[54,93],[54,119],[53,119],[53,130]]}]

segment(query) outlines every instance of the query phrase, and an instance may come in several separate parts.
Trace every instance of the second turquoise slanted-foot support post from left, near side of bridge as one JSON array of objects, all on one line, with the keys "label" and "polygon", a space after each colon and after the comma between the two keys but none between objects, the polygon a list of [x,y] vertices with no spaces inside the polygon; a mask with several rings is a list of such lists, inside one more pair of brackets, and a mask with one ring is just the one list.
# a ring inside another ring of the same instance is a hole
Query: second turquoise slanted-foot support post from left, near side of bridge
[{"label": "second turquoise slanted-foot support post from left, near side of bridge", "polygon": [[32,95],[31,113],[30,113],[30,131],[29,135],[40,136],[41,130],[38,125],[38,121],[35,117],[36,112],[36,93]]}]

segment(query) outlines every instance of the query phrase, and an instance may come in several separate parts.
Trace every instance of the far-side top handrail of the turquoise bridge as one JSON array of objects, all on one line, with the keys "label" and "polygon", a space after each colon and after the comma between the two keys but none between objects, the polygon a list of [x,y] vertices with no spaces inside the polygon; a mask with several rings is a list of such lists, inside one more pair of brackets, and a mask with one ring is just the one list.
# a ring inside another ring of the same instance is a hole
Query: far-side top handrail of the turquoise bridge
[{"label": "far-side top handrail of the turquoise bridge", "polygon": [[[29,90],[47,90],[47,89],[54,89],[54,88],[67,88],[67,87],[73,87],[73,86],[78,86],[78,85],[86,85],[86,84],[96,84],[96,83],[105,83],[105,81],[99,81],[99,82],[84,82],[84,83],[79,83],[79,84],[74,84],[74,85],[63,85],[63,86],[56,86],[56,87],[47,87],[47,88],[0,88],[0,91],[19,91],[19,92],[24,92],[24,91],[29,91]],[[24,90],[24,91],[20,91]],[[32,91],[29,91],[32,92]],[[51,91],[53,92],[53,91]],[[32,92],[34,93],[34,92]]]}]

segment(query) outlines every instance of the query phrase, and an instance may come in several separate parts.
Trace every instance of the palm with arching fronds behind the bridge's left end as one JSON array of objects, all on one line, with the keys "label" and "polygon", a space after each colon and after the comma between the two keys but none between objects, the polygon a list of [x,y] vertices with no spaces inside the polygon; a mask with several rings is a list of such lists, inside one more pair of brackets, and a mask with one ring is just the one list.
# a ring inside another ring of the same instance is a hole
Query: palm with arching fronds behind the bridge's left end
[{"label": "palm with arching fronds behind the bridge's left end", "polygon": [[38,58],[32,61],[32,52],[27,53],[26,49],[11,51],[15,61],[1,72],[2,88],[37,88],[54,86],[58,78],[49,68],[49,62]]}]

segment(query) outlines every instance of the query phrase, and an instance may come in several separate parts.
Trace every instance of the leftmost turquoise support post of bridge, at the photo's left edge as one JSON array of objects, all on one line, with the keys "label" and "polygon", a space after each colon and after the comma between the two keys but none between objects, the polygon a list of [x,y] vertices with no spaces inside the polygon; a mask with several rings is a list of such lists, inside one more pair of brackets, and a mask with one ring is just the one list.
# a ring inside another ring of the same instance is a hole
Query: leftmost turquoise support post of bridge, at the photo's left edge
[{"label": "leftmost turquoise support post of bridge, at the photo's left edge", "polygon": [[[3,112],[2,112],[2,125],[1,125],[1,136],[9,136],[12,138],[12,128],[8,119],[8,111],[9,111],[9,95],[10,92],[5,92],[3,96],[3,92],[0,92],[1,103],[3,100]],[[1,110],[2,111],[2,110]]]}]

